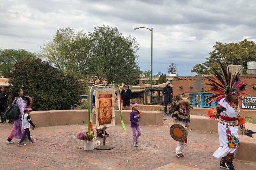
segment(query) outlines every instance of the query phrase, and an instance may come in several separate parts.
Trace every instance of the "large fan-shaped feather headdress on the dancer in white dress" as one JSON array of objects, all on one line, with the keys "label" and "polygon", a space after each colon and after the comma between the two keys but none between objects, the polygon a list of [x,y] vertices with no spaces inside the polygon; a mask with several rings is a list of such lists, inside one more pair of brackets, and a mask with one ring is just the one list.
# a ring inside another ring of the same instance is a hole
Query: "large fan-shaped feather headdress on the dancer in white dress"
[{"label": "large fan-shaped feather headdress on the dancer in white dress", "polygon": [[[232,75],[231,70],[229,70],[229,67],[227,67],[227,70],[225,67],[219,63],[219,67],[221,70],[221,73],[219,73],[216,69],[212,68],[213,78],[208,78],[206,85],[212,86],[210,90],[206,90],[207,93],[214,93],[213,96],[207,97],[207,99],[210,99],[208,103],[221,100],[222,98],[226,97],[227,95],[233,95],[233,94],[241,94],[241,96],[249,96],[248,93],[245,92],[245,86],[247,83],[245,81],[240,81],[240,71],[236,73],[235,75]],[[233,89],[237,89],[239,92],[234,93]],[[241,99],[240,96],[240,99]]]}]

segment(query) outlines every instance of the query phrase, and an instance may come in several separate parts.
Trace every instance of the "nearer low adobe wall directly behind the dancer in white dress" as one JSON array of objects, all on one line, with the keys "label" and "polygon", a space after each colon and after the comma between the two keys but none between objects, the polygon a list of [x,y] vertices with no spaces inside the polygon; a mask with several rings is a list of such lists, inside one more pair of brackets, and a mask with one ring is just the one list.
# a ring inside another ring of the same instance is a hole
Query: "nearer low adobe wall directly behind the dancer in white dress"
[{"label": "nearer low adobe wall directly behind the dancer in white dress", "polygon": [[[218,133],[217,120],[209,120],[208,117],[205,117],[205,116],[191,115],[190,122],[191,122],[189,126],[190,129]],[[245,126],[250,130],[256,131],[255,124],[248,123]],[[255,134],[254,134],[254,137],[255,137]],[[256,162],[256,138],[250,138],[248,136],[242,136],[242,135],[240,135],[239,138],[240,138],[240,146],[235,156],[235,159]],[[214,140],[219,140],[219,139],[214,139]]]}]

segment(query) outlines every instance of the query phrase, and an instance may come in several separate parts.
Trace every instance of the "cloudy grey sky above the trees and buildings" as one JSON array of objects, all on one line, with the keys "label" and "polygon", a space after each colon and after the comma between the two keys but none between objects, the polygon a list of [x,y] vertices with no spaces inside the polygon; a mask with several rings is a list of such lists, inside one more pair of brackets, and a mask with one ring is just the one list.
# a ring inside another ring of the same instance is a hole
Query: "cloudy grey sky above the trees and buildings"
[{"label": "cloudy grey sky above the trees and buildings", "polygon": [[139,66],[167,73],[174,62],[180,76],[194,75],[218,42],[256,40],[254,0],[0,0],[0,48],[40,51],[59,28],[92,32],[95,26],[118,27],[140,45]]}]

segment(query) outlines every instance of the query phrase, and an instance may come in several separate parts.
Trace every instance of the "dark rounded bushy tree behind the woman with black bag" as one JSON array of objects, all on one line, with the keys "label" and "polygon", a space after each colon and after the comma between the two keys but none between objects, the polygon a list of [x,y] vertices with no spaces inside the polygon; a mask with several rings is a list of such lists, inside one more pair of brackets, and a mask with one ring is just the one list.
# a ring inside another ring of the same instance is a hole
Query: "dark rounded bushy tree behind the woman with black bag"
[{"label": "dark rounded bushy tree behind the woman with black bag", "polygon": [[38,58],[16,63],[9,83],[11,92],[21,88],[33,99],[33,110],[70,109],[80,103],[78,80]]}]

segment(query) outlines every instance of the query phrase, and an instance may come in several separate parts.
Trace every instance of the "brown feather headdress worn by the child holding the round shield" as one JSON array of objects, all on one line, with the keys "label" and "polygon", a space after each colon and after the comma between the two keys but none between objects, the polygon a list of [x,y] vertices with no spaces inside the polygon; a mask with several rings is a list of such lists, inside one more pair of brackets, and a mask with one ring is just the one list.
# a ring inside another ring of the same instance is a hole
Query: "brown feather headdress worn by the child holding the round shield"
[{"label": "brown feather headdress worn by the child holding the round shield", "polygon": [[190,100],[189,100],[190,97],[186,98],[184,93],[174,96],[173,98],[174,98],[174,101],[171,103],[171,106],[168,109],[169,114],[172,114],[175,111],[179,110],[180,109],[179,104],[181,103],[185,103],[187,105],[188,111],[189,109],[192,109],[192,106],[190,105]]}]

